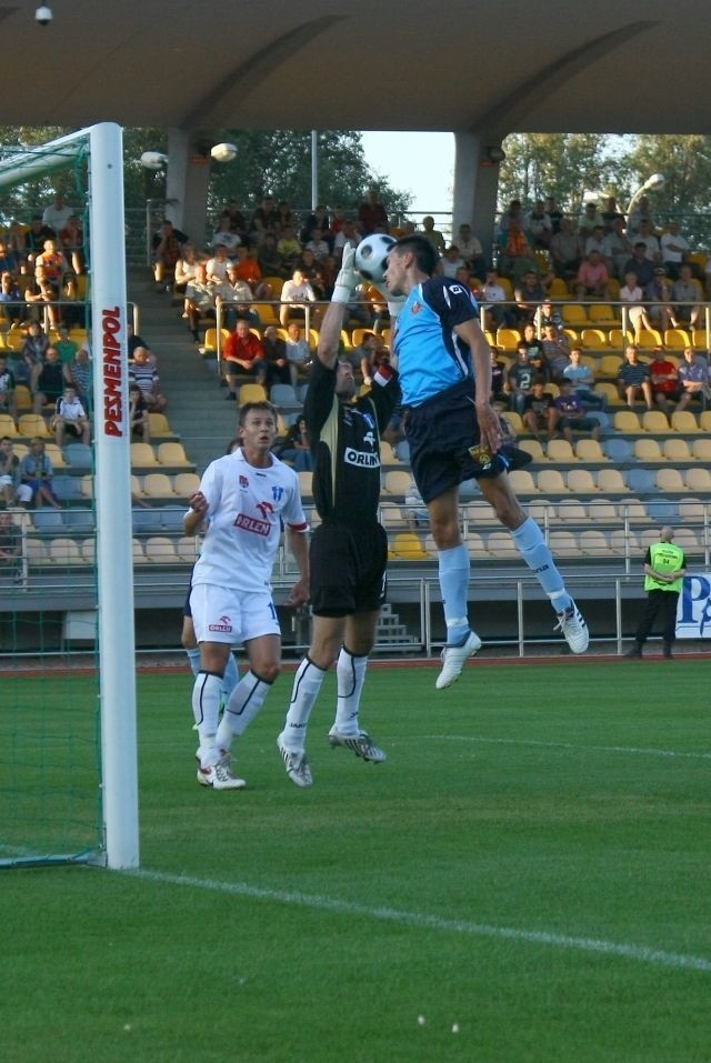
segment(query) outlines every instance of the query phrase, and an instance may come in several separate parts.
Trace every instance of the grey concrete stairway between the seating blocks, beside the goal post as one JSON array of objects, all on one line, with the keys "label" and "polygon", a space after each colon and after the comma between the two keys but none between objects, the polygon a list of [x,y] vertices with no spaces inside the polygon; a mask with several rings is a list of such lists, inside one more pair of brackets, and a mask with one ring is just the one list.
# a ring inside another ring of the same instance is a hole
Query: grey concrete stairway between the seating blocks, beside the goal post
[{"label": "grey concrete stairway between the seating blocks, beside the goal post", "polygon": [[158,359],[170,427],[202,473],[237,433],[236,404],[224,401],[216,362],[200,357],[181,308],[171,304],[168,292],[156,292],[146,267],[129,270],[128,292],[139,309],[139,333]]}]

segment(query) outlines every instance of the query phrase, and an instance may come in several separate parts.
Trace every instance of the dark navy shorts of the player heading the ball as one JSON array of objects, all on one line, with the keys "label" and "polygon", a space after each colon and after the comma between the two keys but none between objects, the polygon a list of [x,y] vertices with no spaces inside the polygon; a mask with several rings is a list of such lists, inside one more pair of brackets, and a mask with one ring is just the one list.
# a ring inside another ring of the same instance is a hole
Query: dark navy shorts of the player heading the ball
[{"label": "dark navy shorts of the player heading the ball", "polygon": [[419,407],[408,407],[404,432],[412,475],[423,502],[431,502],[464,480],[499,477],[507,471],[502,454],[484,449],[475,459],[470,453],[480,439],[470,380],[448,388]]}]

